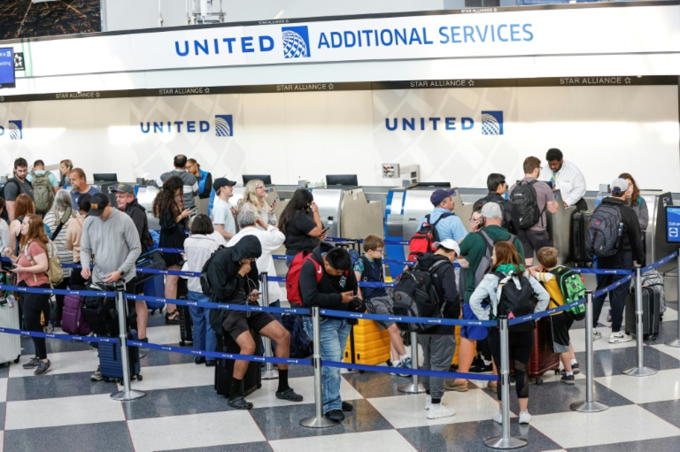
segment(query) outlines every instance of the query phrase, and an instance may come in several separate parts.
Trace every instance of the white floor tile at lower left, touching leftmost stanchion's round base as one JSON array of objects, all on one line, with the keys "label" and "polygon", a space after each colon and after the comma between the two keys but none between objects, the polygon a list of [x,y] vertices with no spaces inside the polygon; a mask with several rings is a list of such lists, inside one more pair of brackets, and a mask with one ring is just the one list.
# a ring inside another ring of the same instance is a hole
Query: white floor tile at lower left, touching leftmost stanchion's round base
[{"label": "white floor tile at lower left, touching leftmost stanchion's round base", "polygon": [[7,402],[5,430],[124,421],[120,402],[109,394]]}]

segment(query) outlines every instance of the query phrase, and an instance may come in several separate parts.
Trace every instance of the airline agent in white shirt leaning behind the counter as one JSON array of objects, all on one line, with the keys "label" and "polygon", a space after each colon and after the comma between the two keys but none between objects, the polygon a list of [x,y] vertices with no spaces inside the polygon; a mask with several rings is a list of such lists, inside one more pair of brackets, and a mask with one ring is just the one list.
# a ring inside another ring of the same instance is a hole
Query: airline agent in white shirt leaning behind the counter
[{"label": "airline agent in white shirt leaning behind the counter", "polygon": [[588,210],[585,203],[585,178],[572,162],[566,162],[562,151],[552,147],[545,154],[548,166],[541,169],[539,181],[551,184],[553,190],[560,190],[564,207],[576,206],[577,211]]}]

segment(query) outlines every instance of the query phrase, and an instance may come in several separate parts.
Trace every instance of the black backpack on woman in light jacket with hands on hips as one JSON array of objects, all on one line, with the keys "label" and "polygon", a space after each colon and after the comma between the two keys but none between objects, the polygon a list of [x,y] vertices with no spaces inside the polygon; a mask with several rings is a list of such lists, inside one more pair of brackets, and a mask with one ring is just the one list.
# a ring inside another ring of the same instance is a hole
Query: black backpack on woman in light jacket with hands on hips
[{"label": "black backpack on woman in light jacket with hands on hips", "polygon": [[[507,315],[508,319],[524,317],[534,312],[534,290],[529,280],[524,275],[505,275],[502,272],[495,272],[498,277],[498,290],[496,290],[496,313],[492,318],[496,319],[500,315]],[[517,288],[515,281],[520,281],[520,288]],[[534,321],[524,321],[521,324],[509,327],[510,332],[531,331],[534,329]]]}]

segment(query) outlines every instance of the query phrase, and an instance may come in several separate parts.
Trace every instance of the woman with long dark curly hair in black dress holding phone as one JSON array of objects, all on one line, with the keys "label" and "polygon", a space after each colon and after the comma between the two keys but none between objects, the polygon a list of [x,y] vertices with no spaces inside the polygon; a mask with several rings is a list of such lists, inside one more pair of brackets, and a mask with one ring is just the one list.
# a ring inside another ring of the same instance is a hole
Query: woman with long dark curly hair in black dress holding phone
[{"label": "woman with long dark curly hair in black dress holding phone", "polygon": [[[163,183],[156,198],[154,199],[153,213],[160,223],[160,239],[158,246],[161,248],[182,248],[184,246],[184,230],[186,219],[191,214],[190,209],[182,210],[182,188],[184,181],[177,176],[171,176]],[[177,253],[164,253],[163,259],[168,270],[181,270],[180,261],[182,255]],[[177,298],[176,275],[165,275],[165,298]],[[177,306],[166,305],[166,324],[179,324],[180,313]]]}]

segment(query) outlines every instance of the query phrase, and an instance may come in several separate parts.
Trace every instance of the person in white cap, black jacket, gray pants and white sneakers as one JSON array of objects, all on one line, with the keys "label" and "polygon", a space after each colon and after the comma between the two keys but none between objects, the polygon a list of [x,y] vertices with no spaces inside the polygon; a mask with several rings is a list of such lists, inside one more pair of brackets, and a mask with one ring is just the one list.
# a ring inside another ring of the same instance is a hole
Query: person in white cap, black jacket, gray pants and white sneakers
[{"label": "person in white cap, black jacket, gray pants and white sneakers", "polygon": [[[443,303],[442,315],[444,319],[458,319],[460,317],[460,296],[456,284],[456,273],[452,263],[458,259],[460,246],[454,239],[442,239],[432,243],[437,249],[418,256],[416,268],[425,270],[432,275],[432,285],[439,300]],[[454,326],[432,326],[426,332],[418,334],[418,343],[423,349],[423,370],[447,372],[451,367],[456,350],[456,335]],[[428,419],[441,419],[456,414],[454,408],[441,404],[444,396],[443,377],[422,377],[422,383],[427,391],[425,409]]]}]

